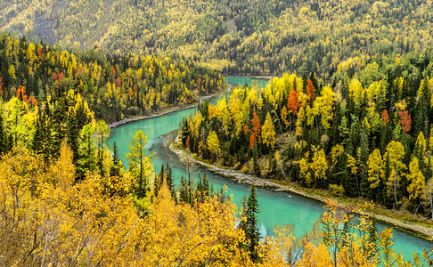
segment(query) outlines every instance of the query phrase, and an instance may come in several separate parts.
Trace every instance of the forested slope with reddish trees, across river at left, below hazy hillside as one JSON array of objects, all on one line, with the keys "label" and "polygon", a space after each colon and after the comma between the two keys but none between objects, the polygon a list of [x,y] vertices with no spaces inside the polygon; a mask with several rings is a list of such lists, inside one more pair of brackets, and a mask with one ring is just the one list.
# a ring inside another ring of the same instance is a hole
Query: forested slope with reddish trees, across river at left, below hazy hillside
[{"label": "forested slope with reddish trees, across river at left, below hazy hillside", "polygon": [[95,117],[108,123],[192,104],[200,95],[220,91],[223,82],[216,71],[181,58],[74,54],[25,38],[0,36],[4,101],[22,92],[24,101],[37,105],[72,90],[86,100]]}]

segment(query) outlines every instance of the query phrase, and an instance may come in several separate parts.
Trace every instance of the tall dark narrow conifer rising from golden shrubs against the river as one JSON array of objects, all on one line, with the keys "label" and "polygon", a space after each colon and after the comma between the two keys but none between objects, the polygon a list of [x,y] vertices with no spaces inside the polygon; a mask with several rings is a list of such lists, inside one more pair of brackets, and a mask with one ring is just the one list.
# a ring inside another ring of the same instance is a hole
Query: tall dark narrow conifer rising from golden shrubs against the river
[{"label": "tall dark narrow conifer rising from golden shrubs against the river", "polygon": [[259,255],[257,253],[258,241],[260,240],[260,232],[257,228],[257,218],[256,214],[258,211],[258,203],[257,203],[257,195],[256,195],[256,187],[254,184],[251,186],[251,190],[249,190],[249,198],[247,202],[247,210],[244,211],[245,216],[245,238],[247,241],[247,247],[249,250],[249,258],[257,263],[259,260]]}]

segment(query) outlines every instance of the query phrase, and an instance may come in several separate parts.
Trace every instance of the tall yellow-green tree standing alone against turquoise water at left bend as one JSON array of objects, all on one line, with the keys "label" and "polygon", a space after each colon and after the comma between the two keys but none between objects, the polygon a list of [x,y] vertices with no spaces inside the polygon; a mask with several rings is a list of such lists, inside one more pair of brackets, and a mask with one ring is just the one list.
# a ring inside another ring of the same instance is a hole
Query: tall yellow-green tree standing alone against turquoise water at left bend
[{"label": "tall yellow-green tree standing alone against turquoise water at left bend", "polygon": [[129,144],[127,152],[128,172],[134,177],[133,191],[138,199],[145,198],[149,191],[149,177],[151,177],[151,158],[145,154],[147,136],[138,130]]}]

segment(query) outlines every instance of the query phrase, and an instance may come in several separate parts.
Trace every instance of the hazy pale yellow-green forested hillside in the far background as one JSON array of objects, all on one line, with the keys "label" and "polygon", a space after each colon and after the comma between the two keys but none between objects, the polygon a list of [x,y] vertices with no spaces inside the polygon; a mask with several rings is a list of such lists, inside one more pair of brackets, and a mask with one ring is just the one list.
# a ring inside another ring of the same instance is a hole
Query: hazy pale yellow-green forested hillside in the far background
[{"label": "hazy pale yellow-green forested hillside in the far background", "polygon": [[[0,29],[64,47],[180,54],[236,75],[364,65],[433,44],[431,1],[6,0]],[[186,15],[185,15],[186,14]]]}]

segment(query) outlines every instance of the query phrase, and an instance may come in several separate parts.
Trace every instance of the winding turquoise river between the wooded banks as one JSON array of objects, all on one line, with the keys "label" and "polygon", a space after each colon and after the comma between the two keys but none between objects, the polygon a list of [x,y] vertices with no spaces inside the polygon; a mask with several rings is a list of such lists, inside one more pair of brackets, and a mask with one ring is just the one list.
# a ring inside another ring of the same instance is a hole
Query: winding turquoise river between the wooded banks
[{"label": "winding turquoise river between the wooded banks", "polygon": [[[227,77],[227,82],[236,85],[251,85],[251,82],[259,86],[265,86],[267,81],[245,77]],[[216,100],[212,100],[215,102]],[[161,164],[167,162],[173,168],[176,184],[179,183],[181,175],[187,176],[186,166],[180,162],[171,151],[162,145],[167,138],[167,134],[179,128],[179,123],[183,117],[192,114],[195,108],[184,109],[161,117],[152,117],[140,121],[135,121],[126,125],[121,125],[112,129],[109,145],[112,148],[114,142],[118,145],[118,152],[124,165],[127,167],[125,153],[129,150],[129,143],[135,132],[139,129],[148,136],[147,152],[154,153],[152,160],[155,170],[159,172]],[[249,194],[249,186],[233,182],[224,177],[208,172],[208,170],[192,165],[191,174],[196,178],[196,182],[201,175],[207,174],[209,182],[214,184],[216,190],[227,187],[227,194],[231,195],[234,203],[240,206],[244,195]],[[257,200],[260,213],[257,214],[257,223],[262,235],[273,235],[276,224],[290,223],[295,225],[295,235],[302,236],[310,231],[313,224],[323,213],[323,203],[285,192],[275,192],[272,190],[257,189]],[[378,229],[383,230],[389,227],[383,223],[378,223]],[[394,230],[395,250],[402,251],[406,259],[412,258],[412,253],[421,253],[424,249],[431,249],[433,243],[417,238],[403,231]]]}]

